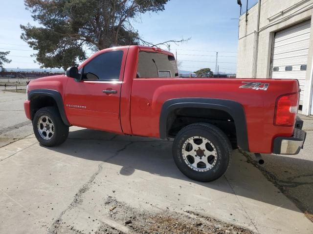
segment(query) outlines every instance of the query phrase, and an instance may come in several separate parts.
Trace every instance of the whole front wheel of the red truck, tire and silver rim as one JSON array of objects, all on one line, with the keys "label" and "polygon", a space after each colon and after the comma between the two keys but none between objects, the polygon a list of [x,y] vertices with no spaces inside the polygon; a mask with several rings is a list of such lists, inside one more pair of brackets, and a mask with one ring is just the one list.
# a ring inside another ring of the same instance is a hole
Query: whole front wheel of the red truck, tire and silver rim
[{"label": "whole front wheel of the red truck, tire and silver rim", "polygon": [[60,145],[68,136],[68,126],[56,107],[39,109],[33,119],[33,129],[37,140],[44,146]]}]

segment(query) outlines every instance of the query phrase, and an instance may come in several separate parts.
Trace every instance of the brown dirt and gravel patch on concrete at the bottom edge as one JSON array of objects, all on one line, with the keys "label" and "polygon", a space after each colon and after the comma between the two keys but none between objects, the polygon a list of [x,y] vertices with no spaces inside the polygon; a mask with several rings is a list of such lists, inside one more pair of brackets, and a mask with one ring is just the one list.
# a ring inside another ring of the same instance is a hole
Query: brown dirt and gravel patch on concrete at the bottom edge
[{"label": "brown dirt and gravel patch on concrete at the bottom edge", "polygon": [[[79,202],[76,198],[74,203]],[[246,228],[193,211],[184,210],[185,214],[181,214],[170,211],[156,213],[135,209],[124,202],[117,201],[112,196],[105,198],[101,206],[117,225],[112,225],[112,221],[108,224],[98,219],[92,219],[93,222],[100,224],[98,230],[92,230],[95,231],[95,234],[254,234]],[[120,224],[124,224],[125,228]],[[75,230],[74,226],[63,222],[62,217],[59,217],[52,224],[48,233],[83,232]]]}]

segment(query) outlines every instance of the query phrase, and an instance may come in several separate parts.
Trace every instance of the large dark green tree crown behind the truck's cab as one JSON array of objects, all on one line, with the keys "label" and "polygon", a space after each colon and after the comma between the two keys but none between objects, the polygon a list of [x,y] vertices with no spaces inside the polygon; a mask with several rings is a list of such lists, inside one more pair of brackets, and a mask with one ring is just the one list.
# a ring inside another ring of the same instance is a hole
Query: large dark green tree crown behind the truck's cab
[{"label": "large dark green tree crown behind the truck's cab", "polygon": [[130,20],[147,11],[162,11],[168,0],[25,0],[35,21],[42,26],[21,25],[21,38],[42,67],[77,65],[86,49],[138,44]]}]

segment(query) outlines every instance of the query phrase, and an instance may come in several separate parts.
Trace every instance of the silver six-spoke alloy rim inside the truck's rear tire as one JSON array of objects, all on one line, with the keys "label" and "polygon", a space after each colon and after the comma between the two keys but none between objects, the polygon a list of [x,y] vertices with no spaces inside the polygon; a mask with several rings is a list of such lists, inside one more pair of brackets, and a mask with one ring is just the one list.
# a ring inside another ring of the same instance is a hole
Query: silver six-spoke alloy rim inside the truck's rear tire
[{"label": "silver six-spoke alloy rim inside the truck's rear tire", "polygon": [[207,172],[216,164],[217,151],[205,137],[188,138],[181,150],[185,163],[197,172]]}]

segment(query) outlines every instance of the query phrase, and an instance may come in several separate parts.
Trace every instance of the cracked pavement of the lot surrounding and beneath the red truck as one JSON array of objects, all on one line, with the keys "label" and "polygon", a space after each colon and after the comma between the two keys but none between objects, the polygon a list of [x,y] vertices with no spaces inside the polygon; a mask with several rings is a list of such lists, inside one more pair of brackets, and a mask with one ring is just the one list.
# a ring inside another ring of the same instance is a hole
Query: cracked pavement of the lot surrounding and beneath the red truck
[{"label": "cracked pavement of the lot surrounding and beneath the red truck", "polygon": [[171,141],[71,127],[43,147],[24,96],[0,91],[0,233],[313,233],[298,208],[312,213],[310,130],[303,155],[257,168],[235,150],[225,176],[201,183],[180,173]]}]

